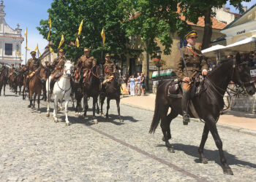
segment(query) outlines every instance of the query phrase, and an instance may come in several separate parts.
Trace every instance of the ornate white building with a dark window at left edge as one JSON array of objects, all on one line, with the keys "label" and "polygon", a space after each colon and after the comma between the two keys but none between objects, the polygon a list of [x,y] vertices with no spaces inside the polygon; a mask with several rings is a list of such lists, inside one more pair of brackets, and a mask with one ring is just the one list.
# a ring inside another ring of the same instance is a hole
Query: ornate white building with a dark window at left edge
[{"label": "ornate white building with a dark window at left edge", "polygon": [[21,44],[24,41],[21,36],[20,25],[14,29],[10,28],[4,20],[4,1],[0,4],[0,63],[16,66],[21,63]]}]

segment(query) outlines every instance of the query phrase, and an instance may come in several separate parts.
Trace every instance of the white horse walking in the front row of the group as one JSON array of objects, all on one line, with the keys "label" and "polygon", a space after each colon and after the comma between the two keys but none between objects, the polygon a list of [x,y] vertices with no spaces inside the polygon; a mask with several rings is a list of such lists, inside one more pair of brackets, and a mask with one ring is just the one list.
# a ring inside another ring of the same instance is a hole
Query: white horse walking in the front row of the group
[{"label": "white horse walking in the front row of the group", "polygon": [[[49,94],[49,98],[47,100],[47,114],[46,116],[50,116],[50,98],[53,96],[54,98],[54,111],[53,111],[53,120],[54,122],[59,122],[57,118],[57,112],[58,112],[58,101],[64,99],[65,100],[65,114],[66,114],[66,124],[69,125],[69,119],[67,117],[67,108],[69,104],[69,97],[71,93],[71,74],[72,74],[72,68],[73,64],[70,62],[70,60],[67,60],[67,62],[64,64],[63,68],[63,74],[61,75],[61,78],[54,84],[53,87],[53,94]],[[51,76],[49,76],[48,80],[46,81],[46,92],[48,95],[49,92],[49,80],[51,79]]]}]

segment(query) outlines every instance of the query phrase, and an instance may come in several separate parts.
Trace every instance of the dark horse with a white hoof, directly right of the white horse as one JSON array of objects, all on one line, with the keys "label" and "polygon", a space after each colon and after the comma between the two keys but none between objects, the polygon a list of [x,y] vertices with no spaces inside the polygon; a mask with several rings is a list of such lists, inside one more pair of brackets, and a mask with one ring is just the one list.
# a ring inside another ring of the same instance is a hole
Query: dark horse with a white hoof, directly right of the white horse
[{"label": "dark horse with a white hoof, directly right of the white horse", "polygon": [[99,97],[99,92],[100,92],[100,84],[102,80],[104,68],[102,64],[97,64],[87,74],[86,78],[84,79],[83,82],[83,105],[84,105],[84,114],[83,116],[86,117],[87,110],[89,108],[88,106],[88,98],[92,97],[93,98],[93,121],[95,124],[98,123],[98,120],[95,117],[95,106],[97,105],[97,113],[99,113],[99,108],[97,104],[97,100]]}]

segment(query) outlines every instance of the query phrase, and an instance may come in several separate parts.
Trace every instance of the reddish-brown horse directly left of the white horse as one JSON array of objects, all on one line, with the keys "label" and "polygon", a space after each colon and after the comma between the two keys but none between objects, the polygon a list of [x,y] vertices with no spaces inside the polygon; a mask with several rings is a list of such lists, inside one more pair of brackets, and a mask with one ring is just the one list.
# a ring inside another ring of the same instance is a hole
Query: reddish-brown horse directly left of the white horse
[{"label": "reddish-brown horse directly left of the white horse", "polygon": [[[34,77],[31,78],[29,81],[29,108],[31,107],[32,109],[35,108],[35,100],[37,99],[37,104],[38,104],[38,110],[39,110],[39,105],[40,105],[40,96],[42,92],[42,87],[43,84],[45,84],[46,81],[46,75],[47,75],[47,68],[39,68]],[[34,95],[34,103],[33,103],[33,95]]]}]

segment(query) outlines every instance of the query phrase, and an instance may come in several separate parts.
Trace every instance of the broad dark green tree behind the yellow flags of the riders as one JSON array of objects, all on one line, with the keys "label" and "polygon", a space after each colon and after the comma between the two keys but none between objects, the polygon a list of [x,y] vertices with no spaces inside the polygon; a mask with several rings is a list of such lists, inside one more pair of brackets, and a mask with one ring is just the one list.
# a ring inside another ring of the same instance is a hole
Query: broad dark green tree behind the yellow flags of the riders
[{"label": "broad dark green tree behind the yellow flags of the riders", "polygon": [[[83,48],[90,47],[91,53],[98,60],[102,57],[102,51],[109,52],[120,58],[120,55],[129,52],[128,37],[121,25],[124,12],[118,10],[121,0],[55,0],[48,9],[52,28],[50,40],[53,41],[53,50],[56,52],[64,34],[64,44],[61,46],[67,57],[77,60],[83,55]],[[78,36],[78,27],[83,19],[83,29],[79,37],[80,47],[75,47]],[[105,29],[105,47],[102,45],[100,33]],[[39,33],[46,39],[48,36],[48,20],[41,20],[37,27]]]}]

